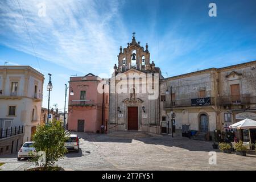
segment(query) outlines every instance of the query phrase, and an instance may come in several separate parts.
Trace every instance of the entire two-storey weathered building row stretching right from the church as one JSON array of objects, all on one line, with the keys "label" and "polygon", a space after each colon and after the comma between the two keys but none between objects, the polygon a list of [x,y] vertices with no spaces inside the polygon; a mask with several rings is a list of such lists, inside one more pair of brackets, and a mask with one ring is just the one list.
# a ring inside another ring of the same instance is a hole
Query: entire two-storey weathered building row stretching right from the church
[{"label": "entire two-storey weathered building row stretching right from the church", "polygon": [[[251,61],[161,80],[162,126],[167,126],[168,133],[172,107],[177,135],[189,126],[190,130],[200,131],[203,139],[213,138],[213,131],[221,130],[234,132],[238,138],[246,140],[249,138],[247,131],[237,133],[228,126],[245,118],[256,119],[255,68],[256,61]],[[166,94],[167,87],[169,91],[172,88],[172,102],[171,94]]]}]

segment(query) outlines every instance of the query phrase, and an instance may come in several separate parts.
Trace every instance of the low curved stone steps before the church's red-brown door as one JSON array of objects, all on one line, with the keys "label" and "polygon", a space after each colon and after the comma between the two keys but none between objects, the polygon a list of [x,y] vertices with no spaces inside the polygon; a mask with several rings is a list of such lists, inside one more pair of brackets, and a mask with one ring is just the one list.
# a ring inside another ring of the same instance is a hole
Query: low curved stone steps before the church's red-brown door
[{"label": "low curved stone steps before the church's red-brown door", "polygon": [[113,131],[108,133],[109,137],[122,137],[122,138],[147,138],[151,135],[142,131]]}]

